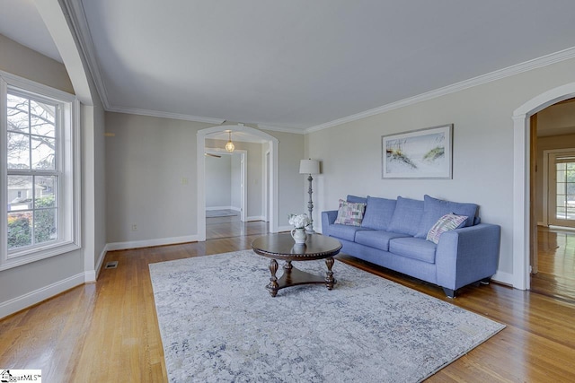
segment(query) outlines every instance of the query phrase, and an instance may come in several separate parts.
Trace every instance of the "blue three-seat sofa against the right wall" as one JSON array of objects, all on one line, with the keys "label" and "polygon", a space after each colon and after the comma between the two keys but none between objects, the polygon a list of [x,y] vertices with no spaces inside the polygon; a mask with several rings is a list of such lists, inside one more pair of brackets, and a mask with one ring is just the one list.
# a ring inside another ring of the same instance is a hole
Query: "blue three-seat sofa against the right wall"
[{"label": "blue three-seat sofa against the right wall", "polygon": [[[501,229],[482,223],[477,205],[427,195],[423,201],[348,196],[347,202],[366,204],[359,226],[335,223],[337,210],[322,212],[323,235],[339,239],[342,253],[438,284],[450,298],[467,284],[489,283],[497,270]],[[443,232],[437,244],[427,240],[448,213],[468,218],[463,227]]]}]

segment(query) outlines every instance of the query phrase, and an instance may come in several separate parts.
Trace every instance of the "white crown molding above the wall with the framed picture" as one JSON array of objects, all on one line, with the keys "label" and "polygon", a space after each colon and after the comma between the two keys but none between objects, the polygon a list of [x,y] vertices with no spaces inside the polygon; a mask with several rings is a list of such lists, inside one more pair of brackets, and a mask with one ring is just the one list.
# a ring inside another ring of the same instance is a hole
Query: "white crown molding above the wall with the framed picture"
[{"label": "white crown molding above the wall with the framed picture", "polygon": [[361,118],[368,118],[371,116],[388,112],[390,110],[407,107],[421,101],[436,99],[438,97],[445,96],[450,93],[455,93],[456,91],[463,91],[464,89],[473,88],[474,86],[482,85],[484,83],[491,83],[493,81],[497,81],[505,77],[509,77],[515,74],[521,74],[536,68],[541,68],[543,66],[559,63],[561,61],[568,60],[573,57],[575,57],[575,47],[563,49],[559,52],[555,52],[543,57],[534,58],[521,64],[511,65],[508,66],[507,68],[503,68],[491,72],[489,74],[482,74],[477,77],[473,77],[469,80],[464,80],[460,83],[447,85],[443,88],[439,88],[434,91],[427,91],[425,93],[418,94],[417,96],[392,102],[390,104],[386,104],[384,106],[375,109],[369,109],[348,117],[338,118],[333,121],[326,122],[325,124],[311,126],[305,129],[305,133],[317,132],[319,130],[327,129],[329,127],[339,126],[347,124],[352,121],[357,121],[358,119]]}]

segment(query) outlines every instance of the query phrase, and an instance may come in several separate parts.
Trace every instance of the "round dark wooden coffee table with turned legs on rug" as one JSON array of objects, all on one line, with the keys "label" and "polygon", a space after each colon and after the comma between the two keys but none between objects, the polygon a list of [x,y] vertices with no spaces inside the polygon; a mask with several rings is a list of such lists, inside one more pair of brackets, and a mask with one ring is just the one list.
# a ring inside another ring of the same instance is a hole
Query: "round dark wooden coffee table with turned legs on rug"
[{"label": "round dark wooden coffee table with turned legs on rug", "polygon": [[[268,234],[255,239],[252,242],[252,248],[256,254],[271,258],[271,277],[266,288],[272,297],[275,297],[279,290],[298,284],[325,283],[328,290],[332,290],[333,285],[337,283],[332,273],[333,257],[341,250],[341,243],[337,239],[321,234],[307,234],[305,245],[296,245],[289,233]],[[325,259],[325,265],[327,265],[325,277],[298,270],[291,264],[292,261],[314,259]],[[279,279],[276,277],[277,260],[286,261],[283,265],[284,274]]]}]

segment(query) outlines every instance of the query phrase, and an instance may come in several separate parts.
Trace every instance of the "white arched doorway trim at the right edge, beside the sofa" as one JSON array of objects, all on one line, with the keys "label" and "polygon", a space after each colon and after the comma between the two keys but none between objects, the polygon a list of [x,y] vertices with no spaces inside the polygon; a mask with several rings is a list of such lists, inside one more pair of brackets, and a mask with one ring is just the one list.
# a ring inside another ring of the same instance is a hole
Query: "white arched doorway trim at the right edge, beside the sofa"
[{"label": "white arched doorway trim at the right edge, beside the sofa", "polygon": [[535,96],[513,112],[513,287],[529,290],[530,118],[562,100],[575,97],[575,83]]}]

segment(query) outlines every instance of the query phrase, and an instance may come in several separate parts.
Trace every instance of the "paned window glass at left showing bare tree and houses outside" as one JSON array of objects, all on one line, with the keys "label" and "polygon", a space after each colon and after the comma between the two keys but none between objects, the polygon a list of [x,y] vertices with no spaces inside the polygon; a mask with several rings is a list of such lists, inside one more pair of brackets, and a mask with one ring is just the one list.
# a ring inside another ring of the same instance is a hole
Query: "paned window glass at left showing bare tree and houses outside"
[{"label": "paned window glass at left showing bare tree and houses outside", "polygon": [[7,248],[57,240],[57,105],[8,92],[7,123]]}]

